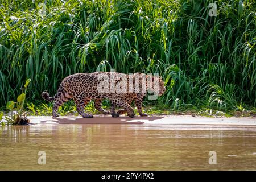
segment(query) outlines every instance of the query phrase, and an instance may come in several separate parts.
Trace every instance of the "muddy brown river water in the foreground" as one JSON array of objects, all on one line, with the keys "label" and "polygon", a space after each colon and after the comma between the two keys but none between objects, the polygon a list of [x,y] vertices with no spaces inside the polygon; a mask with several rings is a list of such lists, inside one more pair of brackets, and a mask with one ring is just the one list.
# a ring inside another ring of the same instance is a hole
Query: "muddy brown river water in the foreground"
[{"label": "muddy brown river water in the foreground", "polygon": [[256,126],[5,126],[0,169],[255,170]]}]

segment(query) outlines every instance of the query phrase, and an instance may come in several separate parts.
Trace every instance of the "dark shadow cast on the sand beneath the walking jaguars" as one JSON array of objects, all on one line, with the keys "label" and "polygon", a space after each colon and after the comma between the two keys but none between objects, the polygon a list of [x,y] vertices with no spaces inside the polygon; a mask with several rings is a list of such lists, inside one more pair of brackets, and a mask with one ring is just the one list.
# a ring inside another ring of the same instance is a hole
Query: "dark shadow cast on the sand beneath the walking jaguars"
[{"label": "dark shadow cast on the sand beneath the walking jaguars", "polygon": [[163,117],[104,117],[94,116],[93,118],[77,118],[77,117],[65,117],[65,118],[53,118],[52,120],[40,121],[40,123],[56,122],[59,124],[143,124],[143,120],[154,121],[162,119]]}]

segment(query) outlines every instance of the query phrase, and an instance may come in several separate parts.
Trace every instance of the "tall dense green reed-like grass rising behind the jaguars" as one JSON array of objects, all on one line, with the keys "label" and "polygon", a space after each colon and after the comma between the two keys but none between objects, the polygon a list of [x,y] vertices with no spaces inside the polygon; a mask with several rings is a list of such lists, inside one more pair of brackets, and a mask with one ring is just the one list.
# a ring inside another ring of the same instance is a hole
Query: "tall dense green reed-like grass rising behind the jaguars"
[{"label": "tall dense green reed-like grass rising behind the jaguars", "polygon": [[255,110],[256,3],[217,0],[209,16],[211,2],[1,0],[0,106],[26,78],[39,103],[65,76],[114,68],[159,73],[160,105]]}]

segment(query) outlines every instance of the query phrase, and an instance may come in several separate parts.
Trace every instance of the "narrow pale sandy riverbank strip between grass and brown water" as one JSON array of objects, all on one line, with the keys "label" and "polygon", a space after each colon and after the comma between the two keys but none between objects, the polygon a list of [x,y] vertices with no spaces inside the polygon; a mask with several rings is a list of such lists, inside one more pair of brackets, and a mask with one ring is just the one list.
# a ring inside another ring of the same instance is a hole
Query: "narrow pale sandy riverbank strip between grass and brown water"
[{"label": "narrow pale sandy riverbank strip between grass and brown water", "polygon": [[80,116],[63,116],[52,118],[50,116],[30,116],[32,124],[144,124],[144,125],[256,125],[256,118],[208,118],[192,117],[191,115],[159,115],[150,117],[129,118],[121,116],[112,118],[106,115],[94,115],[93,118]]}]

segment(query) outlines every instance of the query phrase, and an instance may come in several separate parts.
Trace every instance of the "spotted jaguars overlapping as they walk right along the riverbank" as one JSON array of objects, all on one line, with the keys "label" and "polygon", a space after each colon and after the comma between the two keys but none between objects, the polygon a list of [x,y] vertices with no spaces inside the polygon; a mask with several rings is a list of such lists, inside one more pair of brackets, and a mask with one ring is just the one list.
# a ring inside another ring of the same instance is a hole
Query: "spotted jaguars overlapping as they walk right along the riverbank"
[{"label": "spotted jaguars overlapping as they walk right along the riverbank", "polygon": [[[42,97],[47,101],[54,101],[53,117],[59,117],[57,114],[59,107],[72,99],[75,101],[77,112],[84,118],[93,117],[92,114],[87,114],[84,111],[85,105],[91,100],[94,100],[94,107],[102,114],[119,117],[120,114],[127,112],[127,115],[133,118],[135,114],[130,106],[133,100],[139,115],[147,115],[142,113],[142,100],[146,95],[146,90],[151,90],[161,96],[166,89],[162,78],[148,76],[144,73],[129,75],[116,72],[76,73],[64,78],[55,96],[50,97],[45,90]],[[110,112],[101,107],[101,102],[104,99],[110,100]],[[115,107],[117,106],[123,109],[116,113]]]}]

